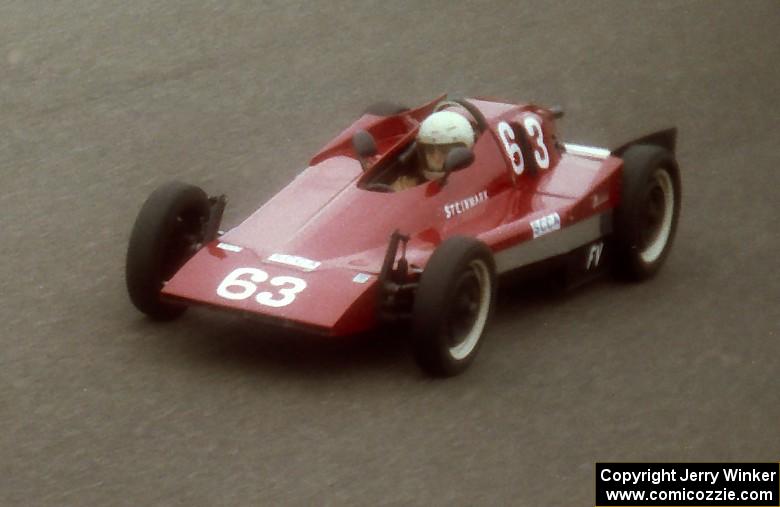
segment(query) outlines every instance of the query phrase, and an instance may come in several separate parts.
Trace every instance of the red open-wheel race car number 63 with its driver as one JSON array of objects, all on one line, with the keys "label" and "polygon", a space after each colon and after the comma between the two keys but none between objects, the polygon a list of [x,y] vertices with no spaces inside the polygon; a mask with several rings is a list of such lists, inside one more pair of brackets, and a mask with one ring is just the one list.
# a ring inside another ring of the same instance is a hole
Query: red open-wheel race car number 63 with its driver
[{"label": "red open-wheel race car number 63 with its driver", "polygon": [[227,232],[224,196],[163,185],[130,237],[130,299],[154,319],[202,304],[329,336],[406,322],[420,366],[457,374],[499,276],[608,266],[643,280],[669,252],[676,131],[610,151],[561,142],[561,116],[473,98],[377,104]]}]

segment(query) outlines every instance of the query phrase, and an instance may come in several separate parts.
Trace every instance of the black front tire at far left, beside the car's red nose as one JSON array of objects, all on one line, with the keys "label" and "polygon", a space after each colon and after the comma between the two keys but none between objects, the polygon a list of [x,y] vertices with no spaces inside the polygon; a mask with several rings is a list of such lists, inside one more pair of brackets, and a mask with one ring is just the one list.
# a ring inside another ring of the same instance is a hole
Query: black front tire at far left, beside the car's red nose
[{"label": "black front tire at far left, beside the car's red nose", "polygon": [[163,283],[194,253],[209,216],[198,187],[170,182],[152,192],[138,213],[127,248],[125,281],[136,308],[155,320],[180,316],[186,306],[160,300]]}]

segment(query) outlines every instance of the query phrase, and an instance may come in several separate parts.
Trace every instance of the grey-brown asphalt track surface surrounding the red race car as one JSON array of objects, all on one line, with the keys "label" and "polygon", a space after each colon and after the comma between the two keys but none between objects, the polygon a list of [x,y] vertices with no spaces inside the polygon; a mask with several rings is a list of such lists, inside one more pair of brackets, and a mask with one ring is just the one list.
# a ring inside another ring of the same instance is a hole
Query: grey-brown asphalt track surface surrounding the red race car
[{"label": "grey-brown asphalt track surface surrounding the red race car", "polygon": [[[327,7],[326,7],[327,4]],[[596,461],[777,461],[780,2],[5,0],[1,505],[592,505]],[[564,138],[677,125],[654,280],[505,290],[476,363],[195,310],[144,319],[158,184],[235,225],[366,104],[561,104]]]}]

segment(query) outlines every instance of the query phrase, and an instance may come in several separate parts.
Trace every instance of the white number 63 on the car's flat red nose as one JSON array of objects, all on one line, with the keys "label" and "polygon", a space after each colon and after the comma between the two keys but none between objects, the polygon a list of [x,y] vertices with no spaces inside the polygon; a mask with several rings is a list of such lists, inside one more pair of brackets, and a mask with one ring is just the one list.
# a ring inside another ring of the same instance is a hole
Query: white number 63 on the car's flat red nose
[{"label": "white number 63 on the car's flat red nose", "polygon": [[[261,284],[258,287],[258,284]],[[273,291],[258,290],[271,285]],[[217,287],[217,295],[225,299],[240,301],[255,296],[255,301],[264,306],[280,308],[295,301],[296,294],[306,288],[306,281],[294,276],[275,276],[258,268],[234,269]]]}]

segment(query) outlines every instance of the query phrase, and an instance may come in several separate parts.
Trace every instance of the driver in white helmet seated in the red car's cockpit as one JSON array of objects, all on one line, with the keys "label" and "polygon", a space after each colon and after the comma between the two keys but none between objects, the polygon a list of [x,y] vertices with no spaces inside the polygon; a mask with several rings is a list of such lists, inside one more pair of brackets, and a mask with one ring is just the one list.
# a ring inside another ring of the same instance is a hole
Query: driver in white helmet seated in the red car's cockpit
[{"label": "driver in white helmet seated in the red car's cockpit", "polygon": [[439,111],[428,116],[417,133],[417,174],[401,175],[393,183],[398,192],[444,176],[444,161],[456,146],[471,148],[474,128],[461,114]]}]

